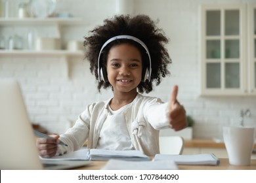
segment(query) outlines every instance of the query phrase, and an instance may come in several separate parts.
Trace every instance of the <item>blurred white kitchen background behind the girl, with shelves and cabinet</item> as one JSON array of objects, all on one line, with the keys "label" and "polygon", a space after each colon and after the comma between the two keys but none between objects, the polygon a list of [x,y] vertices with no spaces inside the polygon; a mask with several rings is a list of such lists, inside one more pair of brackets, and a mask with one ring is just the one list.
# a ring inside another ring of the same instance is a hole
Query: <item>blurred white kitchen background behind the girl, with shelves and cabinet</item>
[{"label": "blurred white kitchen background behind the girl, with shelves and cabinet", "polygon": [[0,78],[20,82],[30,120],[51,133],[66,131],[88,104],[112,97],[96,90],[82,45],[89,30],[115,14],[147,14],[169,37],[171,75],[147,95],[168,101],[179,85],[193,139],[221,140],[223,126],[241,120],[256,127],[255,0],[0,2]]}]

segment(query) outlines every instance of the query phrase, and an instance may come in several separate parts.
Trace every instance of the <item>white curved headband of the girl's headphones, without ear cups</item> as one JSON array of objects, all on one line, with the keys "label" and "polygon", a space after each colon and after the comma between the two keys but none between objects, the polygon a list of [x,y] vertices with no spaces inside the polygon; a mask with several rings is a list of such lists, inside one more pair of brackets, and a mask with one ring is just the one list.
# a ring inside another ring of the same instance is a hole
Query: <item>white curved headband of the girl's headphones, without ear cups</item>
[{"label": "white curved headband of the girl's headphones, without ear cups", "polygon": [[[138,39],[137,37],[133,37],[131,35],[117,35],[115,37],[112,37],[110,39],[108,39],[108,41],[106,41],[103,46],[100,48],[100,53],[98,54],[98,81],[101,81],[101,73],[100,73],[100,55],[102,54],[102,50],[112,41],[116,41],[117,39],[130,39],[133,40],[135,42],[138,42],[145,50],[146,50],[146,54],[148,54],[148,59],[149,59],[149,67],[148,67],[148,80],[150,81],[150,76],[151,76],[151,58],[150,58],[150,52],[148,50],[148,47],[146,46],[146,44],[144,44],[144,42],[142,42],[140,39]],[[104,79],[104,78],[103,78]]]}]

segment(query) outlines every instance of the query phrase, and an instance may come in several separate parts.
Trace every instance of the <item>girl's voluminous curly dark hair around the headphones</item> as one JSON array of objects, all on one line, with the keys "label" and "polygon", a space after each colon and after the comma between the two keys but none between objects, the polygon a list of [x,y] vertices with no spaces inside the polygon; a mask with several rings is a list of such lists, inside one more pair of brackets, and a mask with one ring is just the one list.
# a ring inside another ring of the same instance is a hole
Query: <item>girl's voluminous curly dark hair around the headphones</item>
[{"label": "girl's voluminous curly dark hair around the headphones", "polygon": [[[146,15],[137,15],[131,17],[130,15],[116,15],[113,18],[105,19],[104,25],[95,27],[90,31],[91,35],[85,37],[83,45],[86,47],[87,52],[85,53],[85,59],[90,62],[90,71],[95,75],[96,80],[98,80],[98,54],[100,53],[100,48],[102,45],[108,41],[108,39],[115,37],[117,35],[131,35],[140,39],[150,52],[152,73],[150,81],[146,80],[145,82],[140,82],[138,91],[140,93],[146,92],[149,93],[153,90],[152,82],[156,80],[156,86],[161,82],[161,77],[169,75],[167,70],[167,65],[171,63],[171,58],[165,48],[165,44],[169,42],[162,29],[156,27],[156,23]],[[102,65],[106,67],[106,61],[108,57],[108,52],[110,48],[116,44],[129,43],[133,46],[136,46],[140,50],[142,55],[142,65],[145,67],[146,59],[148,56],[142,52],[142,48],[139,44],[129,39],[121,39],[113,41],[102,51],[100,56],[100,61]],[[100,81],[98,82],[98,91],[100,88],[112,87],[110,82]]]}]

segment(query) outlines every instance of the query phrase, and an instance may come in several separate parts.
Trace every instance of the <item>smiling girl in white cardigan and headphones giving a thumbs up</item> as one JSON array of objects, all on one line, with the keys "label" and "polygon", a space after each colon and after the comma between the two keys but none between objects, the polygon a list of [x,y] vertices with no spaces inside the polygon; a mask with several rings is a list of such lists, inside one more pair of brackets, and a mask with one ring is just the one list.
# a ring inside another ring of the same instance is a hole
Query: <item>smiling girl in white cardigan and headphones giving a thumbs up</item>
[{"label": "smiling girl in white cardigan and headphones giving a thumbs up", "polygon": [[[152,83],[159,85],[161,77],[169,74],[167,42],[161,29],[145,15],[115,16],[93,29],[85,37],[85,58],[98,80],[98,91],[111,87],[114,95],[108,101],[88,105],[66,133],[53,135],[54,139],[37,139],[40,156],[78,150],[86,140],[87,148],[140,150],[147,156],[159,153],[160,129],[186,127],[177,86],[169,103],[141,94],[151,92]],[[68,146],[58,144],[58,139]]]}]

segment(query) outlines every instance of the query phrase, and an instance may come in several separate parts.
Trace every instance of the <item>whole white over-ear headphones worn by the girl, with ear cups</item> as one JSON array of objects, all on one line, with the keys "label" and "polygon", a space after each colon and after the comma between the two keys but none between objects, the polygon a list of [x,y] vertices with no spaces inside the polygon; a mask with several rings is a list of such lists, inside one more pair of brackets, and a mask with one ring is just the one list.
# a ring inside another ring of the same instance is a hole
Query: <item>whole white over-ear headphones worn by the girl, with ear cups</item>
[{"label": "whole white over-ear headphones worn by the girl, with ear cups", "polygon": [[[103,46],[100,49],[100,53],[98,54],[98,82],[100,82],[101,80],[103,80],[104,82],[108,82],[108,76],[106,73],[106,69],[102,69],[102,65],[100,64],[100,56],[102,54],[102,50],[112,41],[115,41],[117,39],[130,39],[133,40],[135,42],[138,42],[145,50],[146,50],[146,54],[148,55],[148,59],[149,59],[149,64],[148,67],[146,68],[145,74],[144,76],[142,76],[142,80],[145,82],[146,80],[150,81],[150,76],[151,76],[151,58],[150,58],[150,52],[148,51],[148,47],[146,46],[146,44],[144,44],[144,42],[142,42],[140,39],[138,39],[137,37],[133,37],[131,35],[117,35],[115,37],[112,37],[110,39],[108,39],[108,41],[106,41]],[[142,71],[143,73],[143,71]]]}]

